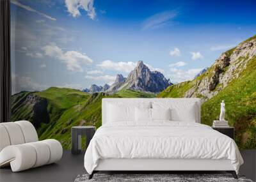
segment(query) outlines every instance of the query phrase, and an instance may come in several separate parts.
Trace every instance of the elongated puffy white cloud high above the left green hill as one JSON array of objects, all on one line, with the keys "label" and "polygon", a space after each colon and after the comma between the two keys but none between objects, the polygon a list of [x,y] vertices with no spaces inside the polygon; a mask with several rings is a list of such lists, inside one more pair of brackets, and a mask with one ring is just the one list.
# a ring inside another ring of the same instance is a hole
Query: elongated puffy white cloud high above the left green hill
[{"label": "elongated puffy white cloud high above the left green hill", "polygon": [[65,63],[67,70],[72,72],[83,72],[82,64],[93,63],[93,60],[85,54],[75,50],[63,52],[63,50],[54,43],[46,45],[42,50],[44,50],[46,56],[53,57]]}]

